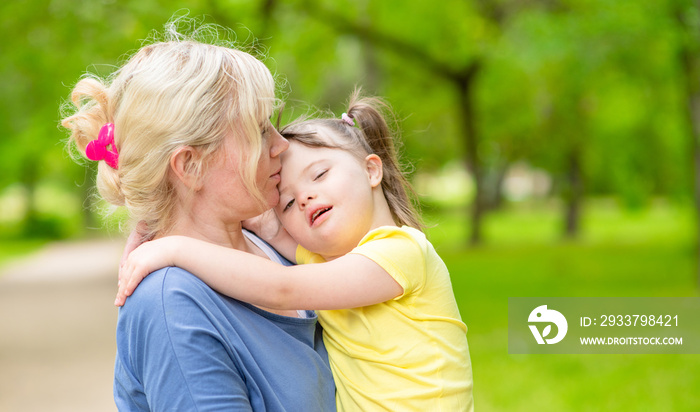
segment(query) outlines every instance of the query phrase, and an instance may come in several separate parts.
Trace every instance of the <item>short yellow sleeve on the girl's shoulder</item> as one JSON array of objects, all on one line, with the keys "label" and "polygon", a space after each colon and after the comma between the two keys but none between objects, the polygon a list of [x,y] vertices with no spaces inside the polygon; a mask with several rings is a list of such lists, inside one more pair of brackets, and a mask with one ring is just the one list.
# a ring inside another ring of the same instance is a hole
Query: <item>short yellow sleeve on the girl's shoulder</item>
[{"label": "short yellow sleeve on the girl's shoulder", "polygon": [[384,226],[369,232],[350,253],[372,259],[403,288],[400,299],[425,284],[423,246],[407,228]]}]

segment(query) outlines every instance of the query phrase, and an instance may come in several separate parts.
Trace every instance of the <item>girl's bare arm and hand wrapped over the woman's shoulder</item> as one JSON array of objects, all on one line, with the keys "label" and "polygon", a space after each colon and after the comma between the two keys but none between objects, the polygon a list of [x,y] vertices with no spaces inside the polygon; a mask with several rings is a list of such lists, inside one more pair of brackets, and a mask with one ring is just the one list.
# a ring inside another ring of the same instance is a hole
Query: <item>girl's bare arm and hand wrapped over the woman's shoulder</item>
[{"label": "girl's bare arm and hand wrapped over the woman's shoulder", "polygon": [[282,266],[239,250],[170,236],[144,243],[131,253],[115,304],[122,305],[146,275],[165,266],[181,267],[219,293],[270,309],[348,309],[403,293],[381,266],[358,254]]}]

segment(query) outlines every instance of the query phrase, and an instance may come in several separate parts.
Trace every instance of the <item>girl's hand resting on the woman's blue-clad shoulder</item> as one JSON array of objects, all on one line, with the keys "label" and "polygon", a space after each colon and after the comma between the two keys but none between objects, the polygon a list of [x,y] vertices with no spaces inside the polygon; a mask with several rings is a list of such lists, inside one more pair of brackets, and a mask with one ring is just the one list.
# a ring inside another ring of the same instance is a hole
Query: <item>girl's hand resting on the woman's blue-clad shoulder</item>
[{"label": "girl's hand resting on the woman's blue-clad shoulder", "polygon": [[176,237],[165,237],[142,243],[129,253],[119,270],[119,291],[114,305],[123,306],[126,298],[134,293],[136,286],[149,273],[173,266],[172,256],[176,253],[177,245]]}]

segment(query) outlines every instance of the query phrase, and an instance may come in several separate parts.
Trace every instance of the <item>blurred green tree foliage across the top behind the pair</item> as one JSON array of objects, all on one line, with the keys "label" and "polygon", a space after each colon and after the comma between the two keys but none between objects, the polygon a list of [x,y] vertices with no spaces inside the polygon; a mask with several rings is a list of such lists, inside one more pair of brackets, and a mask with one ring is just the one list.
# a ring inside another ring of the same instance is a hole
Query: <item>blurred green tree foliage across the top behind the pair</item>
[{"label": "blurred green tree foliage across the top behind the pair", "polygon": [[244,43],[259,37],[280,97],[295,107],[285,122],[309,106],[340,114],[361,85],[396,109],[410,163],[463,164],[460,90],[448,73],[478,62],[475,129],[487,184],[524,162],[549,173],[560,196],[577,151],[587,194],[633,209],[692,196],[679,59],[681,48],[700,53],[690,0],[27,0],[0,5],[11,16],[0,23],[0,197],[26,186],[30,217],[41,208],[33,188],[47,181],[89,199],[91,174],[63,150],[59,106],[86,70],[109,74],[188,12]]}]

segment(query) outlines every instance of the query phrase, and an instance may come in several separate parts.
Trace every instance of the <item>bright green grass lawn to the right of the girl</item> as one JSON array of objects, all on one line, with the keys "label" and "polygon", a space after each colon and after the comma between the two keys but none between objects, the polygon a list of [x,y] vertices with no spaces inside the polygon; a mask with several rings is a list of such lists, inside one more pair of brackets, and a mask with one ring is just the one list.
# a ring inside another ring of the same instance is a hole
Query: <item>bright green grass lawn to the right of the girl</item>
[{"label": "bright green grass lawn to the right of the girl", "polygon": [[587,204],[580,241],[560,241],[555,207],[489,215],[485,245],[466,219],[428,216],[464,321],[478,411],[700,410],[700,355],[509,355],[508,297],[697,296],[692,210]]}]

